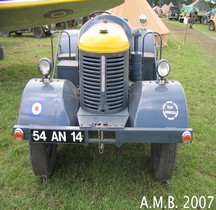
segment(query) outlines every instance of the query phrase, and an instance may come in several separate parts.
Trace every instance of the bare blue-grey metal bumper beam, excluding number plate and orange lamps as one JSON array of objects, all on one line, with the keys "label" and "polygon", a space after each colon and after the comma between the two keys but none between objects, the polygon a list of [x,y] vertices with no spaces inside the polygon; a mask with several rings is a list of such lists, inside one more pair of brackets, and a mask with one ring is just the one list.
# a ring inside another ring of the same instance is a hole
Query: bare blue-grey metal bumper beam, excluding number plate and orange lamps
[{"label": "bare blue-grey metal bumper beam, excluding number plate and orange lamps", "polygon": [[[191,128],[141,128],[141,127],[125,127],[125,128],[81,128],[78,126],[38,126],[38,125],[15,125],[13,129],[21,128],[25,134],[25,140],[31,140],[31,130],[50,130],[50,131],[82,131],[84,133],[84,143],[105,143],[105,144],[123,144],[123,143],[183,143],[182,134]],[[115,138],[90,138],[91,131],[110,132]],[[40,142],[41,143],[41,142]],[[44,142],[46,143],[46,142]],[[50,142],[49,142],[50,143]],[[59,142],[53,142],[59,143]],[[66,143],[66,142],[62,142]]]}]

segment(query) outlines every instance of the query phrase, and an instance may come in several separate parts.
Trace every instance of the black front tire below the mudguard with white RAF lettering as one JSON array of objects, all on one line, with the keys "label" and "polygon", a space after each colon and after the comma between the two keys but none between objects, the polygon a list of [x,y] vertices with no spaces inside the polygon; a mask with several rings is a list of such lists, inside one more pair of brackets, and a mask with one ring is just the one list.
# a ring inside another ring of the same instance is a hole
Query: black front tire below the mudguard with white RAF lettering
[{"label": "black front tire below the mudguard with white RAF lettering", "polygon": [[151,144],[151,161],[155,177],[158,181],[171,178],[176,165],[178,144]]}]

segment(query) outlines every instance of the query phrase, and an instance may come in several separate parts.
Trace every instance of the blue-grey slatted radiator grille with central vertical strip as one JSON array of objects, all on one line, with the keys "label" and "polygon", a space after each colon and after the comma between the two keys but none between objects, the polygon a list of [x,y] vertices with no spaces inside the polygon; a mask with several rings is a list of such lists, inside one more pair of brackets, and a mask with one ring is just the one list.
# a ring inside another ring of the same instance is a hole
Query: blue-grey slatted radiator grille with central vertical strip
[{"label": "blue-grey slatted radiator grille with central vertical strip", "polygon": [[[80,51],[80,103],[84,110],[93,113],[116,113],[126,108],[128,55],[128,51],[116,54]],[[102,72],[104,60],[105,71]]]}]

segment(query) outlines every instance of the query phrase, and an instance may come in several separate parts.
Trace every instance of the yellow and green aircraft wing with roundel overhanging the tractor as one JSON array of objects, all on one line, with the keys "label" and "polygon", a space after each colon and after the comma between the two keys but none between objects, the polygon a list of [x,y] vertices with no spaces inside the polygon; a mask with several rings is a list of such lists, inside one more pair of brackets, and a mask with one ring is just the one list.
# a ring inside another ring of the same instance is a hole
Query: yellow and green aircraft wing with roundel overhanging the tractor
[{"label": "yellow and green aircraft wing with roundel overhanging the tractor", "polygon": [[0,31],[72,20],[122,3],[124,0],[0,0]]}]

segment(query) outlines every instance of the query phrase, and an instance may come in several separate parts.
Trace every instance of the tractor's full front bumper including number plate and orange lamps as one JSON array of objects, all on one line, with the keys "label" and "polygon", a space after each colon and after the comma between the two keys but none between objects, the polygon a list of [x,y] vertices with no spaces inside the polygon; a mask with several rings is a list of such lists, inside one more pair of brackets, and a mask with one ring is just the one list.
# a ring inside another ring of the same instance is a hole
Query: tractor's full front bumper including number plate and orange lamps
[{"label": "tractor's full front bumper including number plate and orange lamps", "polygon": [[38,126],[15,125],[14,138],[17,131],[23,133],[19,140],[34,143],[89,144],[104,143],[190,143],[193,130],[191,128],[80,128],[78,126]]}]

